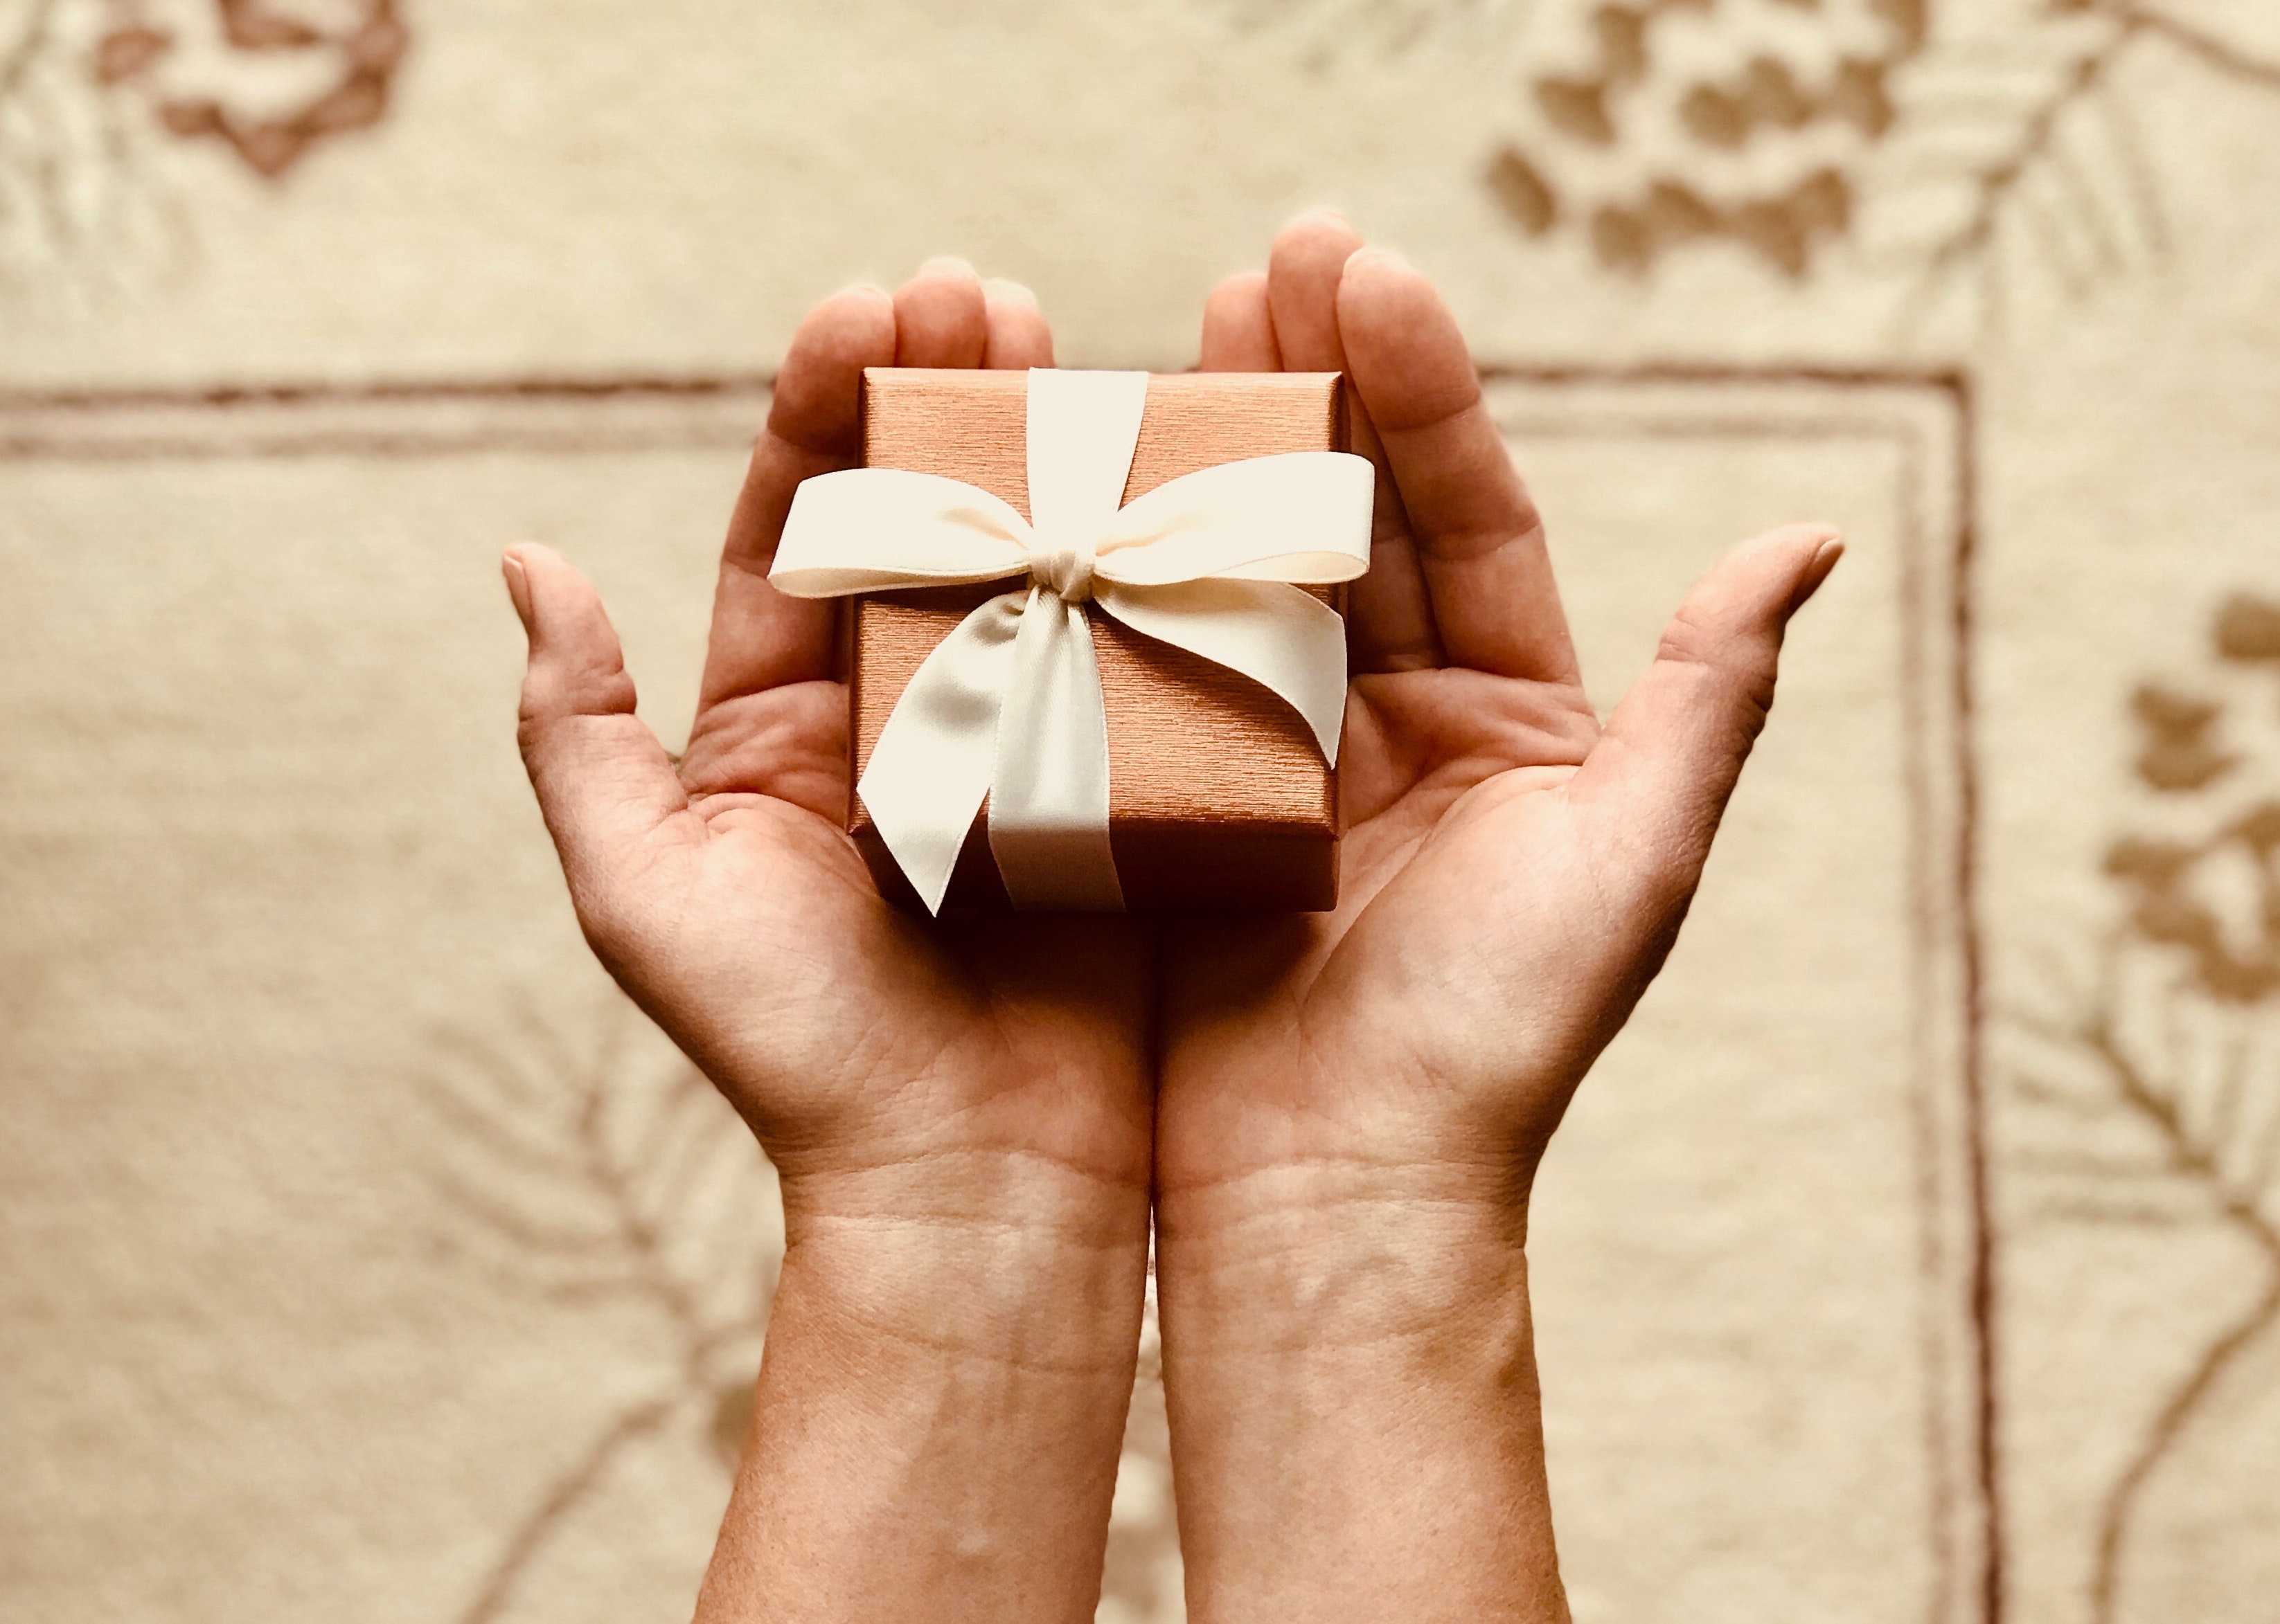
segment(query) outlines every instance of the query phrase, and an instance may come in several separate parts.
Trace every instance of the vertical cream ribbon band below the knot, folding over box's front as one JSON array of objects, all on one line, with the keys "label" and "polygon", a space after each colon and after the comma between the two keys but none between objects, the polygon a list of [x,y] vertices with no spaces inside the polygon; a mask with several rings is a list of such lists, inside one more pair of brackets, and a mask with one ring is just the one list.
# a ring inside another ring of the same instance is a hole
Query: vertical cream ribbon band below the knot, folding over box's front
[{"label": "vertical cream ribbon band below the knot, folding over box's front", "polygon": [[1031,913],[1122,913],[1108,847],[1108,711],[1083,604],[1031,588],[990,777],[990,854]]}]

